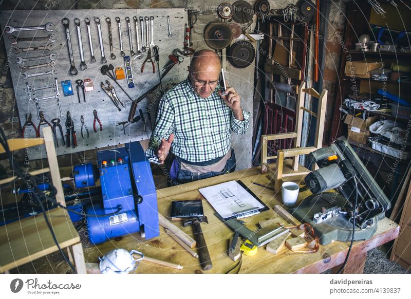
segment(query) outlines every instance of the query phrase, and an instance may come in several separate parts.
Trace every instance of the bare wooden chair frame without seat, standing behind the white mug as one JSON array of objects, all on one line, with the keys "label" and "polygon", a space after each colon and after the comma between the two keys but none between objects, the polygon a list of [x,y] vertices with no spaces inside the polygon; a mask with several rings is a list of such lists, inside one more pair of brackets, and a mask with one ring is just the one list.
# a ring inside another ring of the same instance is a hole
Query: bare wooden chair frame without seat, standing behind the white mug
[{"label": "bare wooden chair frame without seat, standing behind the white mug", "polygon": [[[285,158],[292,158],[292,171],[298,170],[298,158],[300,155],[306,155],[318,148],[321,148],[323,142],[323,135],[324,135],[324,121],[325,121],[325,112],[326,112],[326,104],[327,104],[327,90],[324,89],[321,92],[321,95],[313,88],[306,88],[305,82],[301,83],[300,87],[298,88],[298,98],[297,98],[297,111],[296,111],[296,122],[295,122],[295,132],[290,133],[278,133],[278,134],[271,134],[271,135],[263,135],[261,136],[261,173],[265,174],[269,171],[274,177],[275,185],[274,189],[278,191],[281,187],[282,178],[284,177],[292,177],[292,176],[301,176],[306,175],[309,173],[307,172],[291,172],[288,174],[283,173],[283,166],[284,166],[284,159]],[[304,107],[304,99],[305,95],[308,94],[312,97],[318,98],[318,112],[314,113],[313,111]],[[302,137],[302,129],[303,129],[303,115],[304,111],[311,114],[312,116],[317,118],[316,129],[315,129],[315,141],[314,146],[310,147],[303,147],[301,148],[301,137]],[[277,151],[277,156],[267,156],[267,147],[268,141],[270,140],[281,140],[281,139],[288,139],[294,138],[294,148],[288,149],[279,149]],[[275,171],[272,170],[269,166],[267,161],[271,159],[277,159],[277,166]],[[314,169],[317,169],[317,166],[313,166]]]}]

